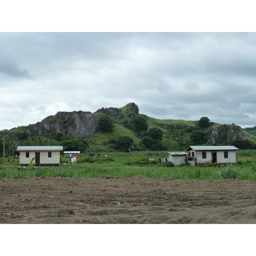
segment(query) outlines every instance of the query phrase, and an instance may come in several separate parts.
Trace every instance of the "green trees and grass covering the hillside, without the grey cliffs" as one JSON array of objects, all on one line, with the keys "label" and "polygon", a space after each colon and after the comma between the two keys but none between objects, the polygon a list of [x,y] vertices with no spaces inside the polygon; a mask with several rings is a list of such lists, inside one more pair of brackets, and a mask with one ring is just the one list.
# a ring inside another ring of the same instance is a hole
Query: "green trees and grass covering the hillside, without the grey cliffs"
[{"label": "green trees and grass covering the hillside, without the grey cliffs", "polygon": [[[133,151],[185,151],[191,145],[208,145],[207,128],[218,128],[220,124],[211,122],[206,116],[198,121],[155,119],[139,114],[137,105],[128,104],[119,108],[119,114],[106,116],[99,114],[99,131],[85,138],[76,138],[65,130],[56,134],[44,132],[44,136],[29,137],[25,126],[0,131],[0,155],[3,156],[3,138],[5,154],[17,155],[18,145],[62,145],[65,150],[82,153]],[[52,117],[54,118],[54,116]],[[69,123],[69,120],[61,120]],[[224,134],[220,134],[218,144],[226,145],[228,131],[232,134],[232,125],[226,125]],[[246,134],[247,140],[235,140],[232,145],[240,149],[256,149],[256,137]]]}]

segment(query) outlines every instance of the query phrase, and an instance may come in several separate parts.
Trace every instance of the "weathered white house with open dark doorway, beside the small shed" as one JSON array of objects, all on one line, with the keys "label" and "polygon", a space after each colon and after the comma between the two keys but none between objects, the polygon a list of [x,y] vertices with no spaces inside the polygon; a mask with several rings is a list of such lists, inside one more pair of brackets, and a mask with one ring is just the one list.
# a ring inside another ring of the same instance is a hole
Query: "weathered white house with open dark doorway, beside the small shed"
[{"label": "weathered white house with open dark doorway, beside the small shed", "polygon": [[236,151],[234,146],[189,146],[188,160],[194,160],[196,165],[204,163],[236,164]]}]

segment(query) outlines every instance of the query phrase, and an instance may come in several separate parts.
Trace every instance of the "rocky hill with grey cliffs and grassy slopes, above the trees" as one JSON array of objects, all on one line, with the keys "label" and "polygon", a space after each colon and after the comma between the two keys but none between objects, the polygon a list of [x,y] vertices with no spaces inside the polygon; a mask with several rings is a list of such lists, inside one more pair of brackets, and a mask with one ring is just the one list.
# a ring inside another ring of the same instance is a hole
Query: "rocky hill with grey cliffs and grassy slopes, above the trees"
[{"label": "rocky hill with grey cliffs and grassy slopes, above the trees", "polygon": [[[37,136],[49,137],[50,135],[54,137],[58,132],[63,132],[64,134],[72,133],[76,138],[92,139],[95,142],[99,138],[96,135],[101,132],[99,120],[102,115],[111,116],[115,123],[113,134],[109,137],[117,138],[120,136],[120,131],[129,130],[132,136],[139,141],[142,140],[145,133],[137,134],[135,131],[130,131],[131,126],[129,125],[134,116],[143,117],[148,124],[148,131],[151,128],[160,128],[163,132],[162,143],[166,148],[185,147],[191,143],[190,134],[193,131],[202,130],[198,121],[160,120],[140,114],[135,103],[129,103],[122,108],[100,108],[94,113],[85,111],[58,112],[54,116],[48,116],[41,122],[31,124],[23,129],[29,134],[30,139]],[[210,127],[204,129],[204,132],[208,137],[207,143],[213,145],[230,145],[234,140],[251,140],[254,144],[256,142],[256,137],[248,134],[237,125],[221,125],[211,122]],[[99,145],[99,143],[96,144]]]}]

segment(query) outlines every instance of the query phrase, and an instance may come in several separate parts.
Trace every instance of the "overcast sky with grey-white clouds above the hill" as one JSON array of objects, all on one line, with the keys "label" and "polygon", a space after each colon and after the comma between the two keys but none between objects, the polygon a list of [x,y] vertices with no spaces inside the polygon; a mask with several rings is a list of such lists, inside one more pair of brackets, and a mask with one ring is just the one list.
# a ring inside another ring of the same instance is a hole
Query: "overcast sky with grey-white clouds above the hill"
[{"label": "overcast sky with grey-white clouds above the hill", "polygon": [[134,102],[157,119],[256,125],[256,33],[0,33],[0,130]]}]

